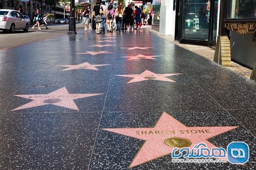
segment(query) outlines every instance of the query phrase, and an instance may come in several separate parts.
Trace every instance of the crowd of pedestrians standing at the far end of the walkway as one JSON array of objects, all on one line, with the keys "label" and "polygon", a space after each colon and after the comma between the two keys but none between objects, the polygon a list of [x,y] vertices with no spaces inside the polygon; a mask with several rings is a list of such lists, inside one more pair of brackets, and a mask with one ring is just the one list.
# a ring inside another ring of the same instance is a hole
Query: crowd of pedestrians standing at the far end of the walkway
[{"label": "crowd of pedestrians standing at the far end of the walkway", "polygon": [[85,26],[85,32],[91,29],[91,19],[96,22],[96,33],[121,32],[127,29],[142,29],[142,25],[151,25],[152,12],[144,13],[139,7],[128,4],[122,8],[122,3],[118,3],[116,7],[113,5],[105,5],[105,1],[97,0],[93,7],[92,14],[88,7],[83,11],[82,24]]}]

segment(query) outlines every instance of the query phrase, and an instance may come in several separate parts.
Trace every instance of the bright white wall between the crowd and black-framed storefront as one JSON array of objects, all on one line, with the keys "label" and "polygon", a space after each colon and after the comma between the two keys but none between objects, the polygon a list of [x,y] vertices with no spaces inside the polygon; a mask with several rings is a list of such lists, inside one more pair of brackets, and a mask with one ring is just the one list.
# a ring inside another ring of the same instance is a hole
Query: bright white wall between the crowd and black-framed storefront
[{"label": "bright white wall between the crowd and black-framed storefront", "polygon": [[174,36],[175,10],[173,10],[173,0],[162,0],[160,8],[159,33]]}]

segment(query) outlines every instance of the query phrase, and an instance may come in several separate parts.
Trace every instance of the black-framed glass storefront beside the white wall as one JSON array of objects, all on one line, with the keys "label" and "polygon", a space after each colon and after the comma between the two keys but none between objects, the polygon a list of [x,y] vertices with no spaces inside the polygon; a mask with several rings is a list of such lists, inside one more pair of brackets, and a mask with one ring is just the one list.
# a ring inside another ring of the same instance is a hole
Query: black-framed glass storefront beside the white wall
[{"label": "black-framed glass storefront beside the white wall", "polygon": [[218,0],[177,0],[175,40],[180,43],[215,46]]}]

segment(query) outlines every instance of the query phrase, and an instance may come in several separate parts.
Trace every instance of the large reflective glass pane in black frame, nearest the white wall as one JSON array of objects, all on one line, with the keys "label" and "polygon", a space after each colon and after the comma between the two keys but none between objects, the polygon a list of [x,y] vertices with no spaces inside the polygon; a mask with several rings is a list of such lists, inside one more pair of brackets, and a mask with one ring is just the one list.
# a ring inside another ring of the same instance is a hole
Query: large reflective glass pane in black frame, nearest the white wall
[{"label": "large reflective glass pane in black frame, nearest the white wall", "polygon": [[182,39],[208,41],[209,0],[185,0],[183,5]]}]

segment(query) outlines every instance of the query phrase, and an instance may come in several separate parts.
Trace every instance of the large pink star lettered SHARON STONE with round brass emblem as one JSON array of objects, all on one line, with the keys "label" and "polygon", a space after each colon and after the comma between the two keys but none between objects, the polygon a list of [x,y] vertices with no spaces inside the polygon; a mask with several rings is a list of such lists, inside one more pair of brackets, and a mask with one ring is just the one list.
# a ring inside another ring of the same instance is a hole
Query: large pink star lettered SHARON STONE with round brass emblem
[{"label": "large pink star lettered SHARON STONE with round brass emblem", "polygon": [[102,130],[144,140],[139,152],[129,165],[129,168],[132,168],[170,154],[174,148],[193,148],[196,144],[205,143],[211,150],[211,148],[216,146],[207,139],[231,131],[237,127],[239,126],[188,127],[166,112],[163,112],[154,127]]}]

